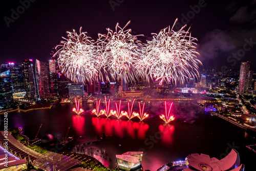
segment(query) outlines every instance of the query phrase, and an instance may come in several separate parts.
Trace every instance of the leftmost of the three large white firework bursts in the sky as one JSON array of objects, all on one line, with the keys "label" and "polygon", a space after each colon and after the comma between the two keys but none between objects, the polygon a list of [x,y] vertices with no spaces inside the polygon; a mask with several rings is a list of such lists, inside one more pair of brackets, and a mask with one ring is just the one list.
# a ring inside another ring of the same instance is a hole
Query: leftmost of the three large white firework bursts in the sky
[{"label": "leftmost of the three large white firework bursts in the sky", "polygon": [[97,58],[97,46],[94,40],[87,36],[87,32],[76,33],[75,30],[68,33],[55,49],[54,56],[58,57],[59,68],[66,77],[74,82],[92,82],[98,79],[99,62]]}]

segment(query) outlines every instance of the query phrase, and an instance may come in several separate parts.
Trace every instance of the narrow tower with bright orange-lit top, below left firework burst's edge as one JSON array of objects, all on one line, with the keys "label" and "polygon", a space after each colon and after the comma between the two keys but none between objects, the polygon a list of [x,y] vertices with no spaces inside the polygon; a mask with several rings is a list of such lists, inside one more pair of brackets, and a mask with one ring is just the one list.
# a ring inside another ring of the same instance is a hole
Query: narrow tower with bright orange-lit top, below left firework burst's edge
[{"label": "narrow tower with bright orange-lit top, below left firework burst's edge", "polygon": [[56,96],[58,92],[58,81],[55,59],[49,59],[49,83],[51,96]]}]

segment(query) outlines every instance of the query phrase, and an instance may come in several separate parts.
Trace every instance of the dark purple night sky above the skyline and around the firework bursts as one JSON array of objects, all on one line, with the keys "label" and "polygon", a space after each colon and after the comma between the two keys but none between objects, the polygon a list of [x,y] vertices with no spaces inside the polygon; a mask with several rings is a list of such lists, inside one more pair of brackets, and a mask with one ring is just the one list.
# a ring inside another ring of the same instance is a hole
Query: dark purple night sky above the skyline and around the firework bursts
[{"label": "dark purple night sky above the skyline and around the firework bursts", "polygon": [[[22,2],[26,8],[20,7]],[[1,1],[0,14],[0,63],[29,58],[46,61],[61,36],[67,37],[66,31],[73,29],[79,32],[80,27],[96,40],[106,28],[114,30],[116,23],[123,27],[131,20],[128,28],[133,34],[151,36],[173,26],[178,18],[175,30],[187,24],[191,36],[198,38],[204,68],[239,68],[241,61],[250,60],[256,69],[255,0],[12,0]]]}]

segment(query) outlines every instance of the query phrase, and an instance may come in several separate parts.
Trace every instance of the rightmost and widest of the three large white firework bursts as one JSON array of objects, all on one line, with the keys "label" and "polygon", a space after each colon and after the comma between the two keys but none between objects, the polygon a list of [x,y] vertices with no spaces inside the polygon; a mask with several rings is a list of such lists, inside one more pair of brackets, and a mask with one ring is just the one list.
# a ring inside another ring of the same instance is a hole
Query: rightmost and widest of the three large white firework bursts
[{"label": "rightmost and widest of the three large white firework bursts", "polygon": [[147,41],[143,57],[136,63],[137,73],[143,73],[143,77],[150,77],[155,81],[167,83],[181,82],[190,77],[198,77],[199,65],[202,63],[197,59],[195,41],[191,37],[189,29],[184,31],[173,30],[177,19],[172,27],[165,28],[159,34],[152,33],[153,39]]}]

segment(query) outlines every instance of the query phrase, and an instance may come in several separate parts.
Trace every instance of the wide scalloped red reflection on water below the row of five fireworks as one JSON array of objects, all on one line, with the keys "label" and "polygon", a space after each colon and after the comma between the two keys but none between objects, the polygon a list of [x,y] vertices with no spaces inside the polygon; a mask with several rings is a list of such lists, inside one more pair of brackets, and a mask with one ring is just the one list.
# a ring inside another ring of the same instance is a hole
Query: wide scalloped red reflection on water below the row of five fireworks
[{"label": "wide scalloped red reflection on water below the row of five fireworks", "polygon": [[97,134],[105,134],[107,136],[118,136],[123,138],[125,134],[136,139],[145,139],[148,130],[148,124],[143,122],[133,122],[131,120],[116,120],[110,118],[92,118],[92,124]]}]

